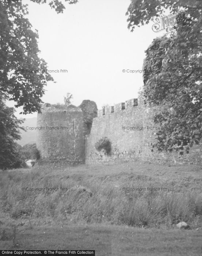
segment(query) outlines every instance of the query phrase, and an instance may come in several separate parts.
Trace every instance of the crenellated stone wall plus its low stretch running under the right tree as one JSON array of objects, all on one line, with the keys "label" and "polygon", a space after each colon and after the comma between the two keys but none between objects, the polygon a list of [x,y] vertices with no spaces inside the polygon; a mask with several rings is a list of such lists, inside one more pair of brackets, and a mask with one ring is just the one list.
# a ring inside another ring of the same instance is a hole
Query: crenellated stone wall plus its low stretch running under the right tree
[{"label": "crenellated stone wall plus its low stretch running under the right tree", "polygon": [[[201,146],[193,147],[190,154],[184,156],[178,153],[159,153],[152,147],[155,143],[156,131],[148,127],[157,126],[153,124],[152,113],[153,109],[146,109],[143,104],[137,105],[137,99],[119,103],[114,108],[106,107],[104,110],[98,110],[98,117],[93,120],[91,133],[86,136],[85,163],[103,164],[137,159],[201,163]],[[99,152],[95,148],[95,143],[103,137],[107,137],[111,142],[110,155],[106,155],[104,150]]]}]

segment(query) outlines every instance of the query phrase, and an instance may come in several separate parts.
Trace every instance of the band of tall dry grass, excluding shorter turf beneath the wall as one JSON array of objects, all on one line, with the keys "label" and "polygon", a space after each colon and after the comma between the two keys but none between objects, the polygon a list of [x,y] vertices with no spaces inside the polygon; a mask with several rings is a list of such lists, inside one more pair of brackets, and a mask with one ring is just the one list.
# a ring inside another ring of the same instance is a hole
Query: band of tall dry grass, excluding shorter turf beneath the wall
[{"label": "band of tall dry grass, excluding shorter turf beneath the wall", "polygon": [[[158,182],[144,176],[127,182],[119,175],[116,181],[91,175],[56,177],[33,170],[1,174],[0,213],[11,219],[36,220],[50,217],[55,221],[111,223],[141,227],[160,227],[179,221],[200,225],[202,193],[193,188],[166,183],[171,191],[123,191],[123,187],[158,187]],[[68,188],[68,191],[22,191],[22,188]]]}]

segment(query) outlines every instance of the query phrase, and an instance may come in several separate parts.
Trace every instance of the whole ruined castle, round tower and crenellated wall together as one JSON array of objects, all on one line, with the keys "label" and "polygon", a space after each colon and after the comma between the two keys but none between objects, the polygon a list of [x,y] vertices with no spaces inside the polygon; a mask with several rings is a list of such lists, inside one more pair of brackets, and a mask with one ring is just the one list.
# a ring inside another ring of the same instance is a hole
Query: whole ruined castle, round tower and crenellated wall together
[{"label": "whole ruined castle, round tower and crenellated wall together", "polygon": [[[93,101],[79,107],[44,104],[38,114],[38,127],[68,127],[68,130],[38,131],[37,148],[41,159],[48,162],[105,164],[128,160],[149,160],[172,163],[202,163],[201,145],[189,154],[159,152],[155,143],[154,108],[145,108],[137,99],[97,110]],[[98,115],[98,116],[97,116]],[[142,129],[133,129],[142,127]],[[143,129],[144,128],[144,129]],[[106,137],[110,154],[98,151],[95,144]]]}]

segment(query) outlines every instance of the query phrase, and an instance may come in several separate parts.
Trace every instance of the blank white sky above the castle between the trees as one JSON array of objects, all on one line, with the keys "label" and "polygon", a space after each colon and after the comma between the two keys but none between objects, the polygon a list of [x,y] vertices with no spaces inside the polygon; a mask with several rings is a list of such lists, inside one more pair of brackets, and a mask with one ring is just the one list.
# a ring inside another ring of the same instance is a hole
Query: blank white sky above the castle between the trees
[{"label": "blank white sky above the castle between the trees", "polygon": [[[69,92],[73,94],[74,105],[90,99],[100,109],[105,104],[137,98],[143,85],[142,74],[122,70],[142,69],[144,50],[163,33],[153,32],[153,22],[131,33],[125,15],[130,0],[65,3],[63,14],[57,14],[47,4],[29,0],[23,3],[28,4],[28,19],[33,29],[38,30],[40,56],[48,68],[68,70],[68,73],[52,73],[57,83],[48,83],[44,102],[64,103]],[[37,116],[37,113],[19,115],[22,110],[16,110],[17,117]]]}]

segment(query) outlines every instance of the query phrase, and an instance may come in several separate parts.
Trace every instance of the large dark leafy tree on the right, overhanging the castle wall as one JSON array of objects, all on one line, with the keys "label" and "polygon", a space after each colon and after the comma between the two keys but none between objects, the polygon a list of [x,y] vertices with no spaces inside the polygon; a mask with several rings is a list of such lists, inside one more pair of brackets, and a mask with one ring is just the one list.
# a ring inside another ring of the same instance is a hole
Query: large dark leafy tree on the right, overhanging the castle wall
[{"label": "large dark leafy tree on the right, overhanging the castle wall", "polygon": [[132,1],[127,12],[129,28],[148,23],[165,8],[173,13],[184,8],[186,17],[177,19],[176,32],[170,37],[156,38],[146,50],[144,69],[168,72],[145,72],[144,96],[147,104],[159,106],[155,122],[170,128],[156,133],[159,150],[186,149],[188,153],[189,146],[202,138],[202,3]]}]

